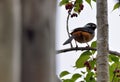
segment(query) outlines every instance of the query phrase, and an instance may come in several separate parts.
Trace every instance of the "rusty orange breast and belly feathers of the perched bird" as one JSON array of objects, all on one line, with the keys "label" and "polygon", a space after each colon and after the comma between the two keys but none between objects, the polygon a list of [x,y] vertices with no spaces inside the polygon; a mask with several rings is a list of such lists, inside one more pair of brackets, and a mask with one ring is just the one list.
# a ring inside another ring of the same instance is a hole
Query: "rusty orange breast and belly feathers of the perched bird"
[{"label": "rusty orange breast and belly feathers of the perched bird", "polygon": [[87,43],[90,40],[92,40],[94,37],[94,34],[91,34],[89,32],[83,32],[83,31],[72,32],[71,35],[79,43]]}]

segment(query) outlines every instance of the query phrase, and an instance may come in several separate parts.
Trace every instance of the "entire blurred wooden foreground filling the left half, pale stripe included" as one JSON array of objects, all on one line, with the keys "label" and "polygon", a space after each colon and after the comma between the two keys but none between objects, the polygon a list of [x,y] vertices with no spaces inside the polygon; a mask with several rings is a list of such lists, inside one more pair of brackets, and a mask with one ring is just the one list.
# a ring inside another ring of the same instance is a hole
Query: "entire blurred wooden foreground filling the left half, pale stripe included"
[{"label": "entire blurred wooden foreground filling the left half, pale stripe included", "polygon": [[0,0],[0,82],[57,82],[55,10],[56,0]]}]

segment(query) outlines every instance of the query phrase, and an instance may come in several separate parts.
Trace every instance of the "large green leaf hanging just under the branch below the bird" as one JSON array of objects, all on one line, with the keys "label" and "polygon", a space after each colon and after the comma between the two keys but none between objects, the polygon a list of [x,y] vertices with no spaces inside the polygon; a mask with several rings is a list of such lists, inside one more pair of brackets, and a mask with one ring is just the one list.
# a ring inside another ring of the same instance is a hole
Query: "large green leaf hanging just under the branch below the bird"
[{"label": "large green leaf hanging just under the branch below the bird", "polygon": [[90,55],[92,55],[92,53],[90,51],[83,52],[80,55],[80,57],[77,59],[77,61],[75,63],[75,67],[77,67],[77,68],[84,67],[84,63],[90,58]]}]

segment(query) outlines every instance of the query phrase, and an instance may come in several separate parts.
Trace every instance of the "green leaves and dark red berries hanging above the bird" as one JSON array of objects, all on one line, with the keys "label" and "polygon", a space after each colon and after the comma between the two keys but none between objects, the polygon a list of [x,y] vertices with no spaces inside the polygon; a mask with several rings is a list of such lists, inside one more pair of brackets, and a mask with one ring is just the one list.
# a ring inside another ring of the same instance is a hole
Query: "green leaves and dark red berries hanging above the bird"
[{"label": "green leaves and dark red berries hanging above the bird", "polygon": [[[85,0],[85,1],[92,7],[91,2],[96,0]],[[68,13],[71,14],[71,17],[77,17],[78,14],[80,14],[81,11],[84,9],[83,0],[75,0],[75,1],[61,0],[59,5],[60,6],[65,5],[65,9],[68,11]]]}]

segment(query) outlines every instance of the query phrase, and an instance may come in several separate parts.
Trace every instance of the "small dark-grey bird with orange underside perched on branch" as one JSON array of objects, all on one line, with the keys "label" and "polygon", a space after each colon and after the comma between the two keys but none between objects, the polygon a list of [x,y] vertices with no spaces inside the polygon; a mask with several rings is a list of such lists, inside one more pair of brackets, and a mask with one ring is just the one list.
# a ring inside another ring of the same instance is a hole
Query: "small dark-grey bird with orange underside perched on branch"
[{"label": "small dark-grey bird with orange underside perched on branch", "polygon": [[[83,27],[75,28],[70,33],[71,36],[63,43],[63,45],[71,43],[73,39],[75,40],[75,42],[77,41],[79,43],[86,43],[88,45],[88,42],[91,41],[95,36],[96,28],[97,25],[94,23],[87,23]],[[77,47],[77,43],[76,43],[76,47]]]}]

